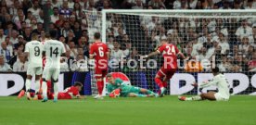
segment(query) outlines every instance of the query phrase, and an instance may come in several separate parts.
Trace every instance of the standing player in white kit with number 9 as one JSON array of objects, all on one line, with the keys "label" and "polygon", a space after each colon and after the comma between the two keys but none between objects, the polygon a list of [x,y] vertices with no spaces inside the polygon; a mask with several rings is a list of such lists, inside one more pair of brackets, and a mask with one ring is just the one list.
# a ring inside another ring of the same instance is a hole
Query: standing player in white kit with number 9
[{"label": "standing player in white kit with number 9", "polygon": [[25,54],[28,56],[29,64],[27,70],[27,79],[26,79],[26,95],[29,100],[32,99],[30,94],[32,77],[35,75],[35,93],[39,92],[40,89],[40,78],[43,72],[43,61],[42,61],[42,52],[43,44],[38,40],[38,34],[32,33],[32,42],[29,42],[25,46]]}]

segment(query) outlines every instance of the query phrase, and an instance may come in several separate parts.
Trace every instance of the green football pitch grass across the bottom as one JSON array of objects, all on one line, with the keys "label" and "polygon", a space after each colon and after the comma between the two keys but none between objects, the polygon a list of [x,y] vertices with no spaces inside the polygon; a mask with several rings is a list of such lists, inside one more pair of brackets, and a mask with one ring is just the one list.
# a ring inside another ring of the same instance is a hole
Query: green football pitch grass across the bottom
[{"label": "green football pitch grass across the bottom", "polygon": [[256,125],[256,96],[228,102],[89,96],[58,103],[0,97],[0,125]]}]

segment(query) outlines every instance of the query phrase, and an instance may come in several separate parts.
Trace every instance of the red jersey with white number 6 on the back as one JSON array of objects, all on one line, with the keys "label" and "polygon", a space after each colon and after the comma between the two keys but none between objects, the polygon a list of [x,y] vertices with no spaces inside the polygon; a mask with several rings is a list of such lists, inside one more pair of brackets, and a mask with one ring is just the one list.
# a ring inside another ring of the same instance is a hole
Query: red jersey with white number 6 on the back
[{"label": "red jersey with white number 6 on the back", "polygon": [[95,42],[91,45],[90,55],[95,55],[96,69],[108,69],[108,45]]}]

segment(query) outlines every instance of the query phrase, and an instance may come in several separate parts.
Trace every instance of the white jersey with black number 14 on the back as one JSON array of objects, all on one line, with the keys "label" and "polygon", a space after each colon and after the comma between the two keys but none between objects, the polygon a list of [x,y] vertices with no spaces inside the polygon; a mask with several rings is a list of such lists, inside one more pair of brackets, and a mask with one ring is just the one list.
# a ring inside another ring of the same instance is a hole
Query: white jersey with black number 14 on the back
[{"label": "white jersey with black number 14 on the back", "polygon": [[48,40],[44,44],[45,68],[60,69],[60,56],[66,53],[64,45],[57,40]]}]

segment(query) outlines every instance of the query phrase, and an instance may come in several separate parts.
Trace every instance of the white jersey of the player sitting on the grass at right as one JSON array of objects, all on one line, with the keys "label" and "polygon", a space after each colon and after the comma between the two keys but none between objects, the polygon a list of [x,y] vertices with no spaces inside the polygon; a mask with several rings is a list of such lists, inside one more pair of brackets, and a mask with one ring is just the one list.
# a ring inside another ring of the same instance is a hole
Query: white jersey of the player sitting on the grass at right
[{"label": "white jersey of the player sitting on the grass at right", "polygon": [[227,82],[227,80],[224,77],[224,74],[220,73],[216,76],[213,77],[213,79],[209,82],[203,82],[201,84],[199,84],[199,88],[204,88],[204,87],[208,87],[211,85],[216,85],[218,90],[219,90],[219,94],[221,94],[224,98],[228,99],[230,94],[229,94],[229,84]]}]

